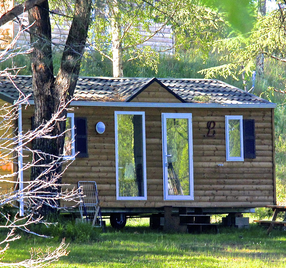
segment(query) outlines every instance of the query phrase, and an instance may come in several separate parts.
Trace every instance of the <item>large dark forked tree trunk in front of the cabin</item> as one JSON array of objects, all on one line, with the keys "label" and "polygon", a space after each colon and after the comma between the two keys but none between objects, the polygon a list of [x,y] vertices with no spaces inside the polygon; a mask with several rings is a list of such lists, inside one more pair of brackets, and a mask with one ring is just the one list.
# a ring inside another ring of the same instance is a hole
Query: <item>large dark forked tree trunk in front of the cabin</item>
[{"label": "large dark forked tree trunk in front of the cabin", "polygon": [[[35,24],[30,29],[31,44],[34,48],[31,57],[33,90],[35,98],[35,127],[50,120],[52,115],[60,109],[62,105],[71,100],[78,75],[80,72],[80,62],[86,44],[87,32],[90,23],[91,1],[76,0],[74,18],[67,37],[63,57],[57,77],[54,78],[52,64],[51,45],[51,25],[49,18],[48,1],[29,10],[29,23]],[[67,110],[62,110],[59,118],[67,116]],[[50,135],[57,138],[39,138],[33,141],[33,150],[40,151],[35,154],[35,160],[39,161],[32,168],[31,179],[40,178],[43,181],[50,181],[57,178],[56,183],[61,183],[61,156],[65,135],[65,121],[57,121]],[[43,172],[51,166],[48,173]],[[47,187],[43,196],[48,199],[41,199],[35,210],[40,215],[55,213],[59,207],[59,201],[53,197],[57,196],[61,187]]]}]

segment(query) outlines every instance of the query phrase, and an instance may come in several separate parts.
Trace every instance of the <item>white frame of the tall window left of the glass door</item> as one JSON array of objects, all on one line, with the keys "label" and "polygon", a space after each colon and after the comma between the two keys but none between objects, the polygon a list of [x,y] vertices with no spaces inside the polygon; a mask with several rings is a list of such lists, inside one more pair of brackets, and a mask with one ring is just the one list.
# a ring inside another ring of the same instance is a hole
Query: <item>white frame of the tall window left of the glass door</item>
[{"label": "white frame of the tall window left of the glass door", "polygon": [[[143,183],[144,196],[119,196],[119,179],[118,179],[118,125],[117,115],[142,115],[142,153],[143,153]],[[146,138],[145,138],[145,112],[114,112],[114,127],[115,127],[115,169],[116,169],[116,200],[147,200],[147,185],[146,185]]]}]

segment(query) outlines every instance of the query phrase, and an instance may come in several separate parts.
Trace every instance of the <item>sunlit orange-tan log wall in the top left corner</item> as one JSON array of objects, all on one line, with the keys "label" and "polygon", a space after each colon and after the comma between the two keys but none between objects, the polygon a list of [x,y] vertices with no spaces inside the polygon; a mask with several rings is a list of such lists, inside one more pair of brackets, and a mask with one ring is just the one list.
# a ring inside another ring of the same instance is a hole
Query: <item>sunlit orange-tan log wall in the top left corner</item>
[{"label": "sunlit orange-tan log wall in the top left corner", "polygon": [[[0,15],[13,8],[13,0],[0,0]],[[14,23],[9,21],[0,27],[0,49],[5,49],[14,38]]]}]

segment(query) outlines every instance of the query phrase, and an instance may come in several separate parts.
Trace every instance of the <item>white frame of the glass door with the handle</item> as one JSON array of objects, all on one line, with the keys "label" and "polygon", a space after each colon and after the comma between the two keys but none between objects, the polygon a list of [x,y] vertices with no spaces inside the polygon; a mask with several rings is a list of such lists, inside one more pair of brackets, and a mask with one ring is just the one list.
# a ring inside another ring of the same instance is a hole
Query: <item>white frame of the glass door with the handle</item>
[{"label": "white frame of the glass door with the handle", "polygon": [[[186,118],[188,119],[188,141],[189,141],[189,195],[169,195],[168,194],[168,167],[166,167],[167,155],[167,118]],[[163,147],[163,183],[164,200],[194,200],[194,173],[193,173],[193,123],[191,113],[162,113],[162,147]]]}]

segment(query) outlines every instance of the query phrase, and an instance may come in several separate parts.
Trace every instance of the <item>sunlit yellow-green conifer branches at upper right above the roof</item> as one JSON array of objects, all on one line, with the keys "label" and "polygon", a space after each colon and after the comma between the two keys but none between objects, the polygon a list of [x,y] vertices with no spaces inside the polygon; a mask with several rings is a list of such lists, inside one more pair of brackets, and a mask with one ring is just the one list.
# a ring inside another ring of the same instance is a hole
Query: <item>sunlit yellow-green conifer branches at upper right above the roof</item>
[{"label": "sunlit yellow-green conifer branches at upper right above the roof", "polygon": [[[284,19],[286,2],[276,1],[276,3],[279,4],[279,8],[268,12],[266,16],[262,16],[260,12],[257,12],[259,2],[251,2],[251,4],[255,4],[253,16],[256,16],[253,28],[247,32],[236,31],[234,28],[230,28],[226,38],[214,40],[211,44],[211,53],[221,55],[221,65],[203,69],[199,73],[203,74],[205,78],[216,78],[218,76],[226,78],[231,76],[238,80],[242,73],[246,76],[251,76],[256,69],[256,58],[261,54],[264,57],[286,61]],[[244,8],[247,9],[247,5],[244,5]],[[238,14],[243,16],[243,12],[239,10]],[[247,20],[247,18],[245,19]],[[232,31],[230,31],[231,29]]]}]

